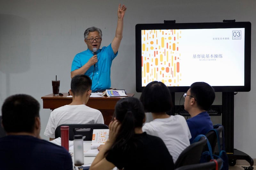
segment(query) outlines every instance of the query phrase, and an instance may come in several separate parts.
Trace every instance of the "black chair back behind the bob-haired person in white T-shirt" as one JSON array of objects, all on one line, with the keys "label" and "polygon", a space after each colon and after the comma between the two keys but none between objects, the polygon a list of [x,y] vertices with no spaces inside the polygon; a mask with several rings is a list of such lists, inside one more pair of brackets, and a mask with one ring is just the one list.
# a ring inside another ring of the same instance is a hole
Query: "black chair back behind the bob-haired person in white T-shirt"
[{"label": "black chair back behind the bob-haired person in white T-shirt", "polygon": [[178,168],[180,166],[200,163],[201,155],[206,143],[207,138],[203,136],[199,141],[190,144],[180,153],[180,156],[176,160],[174,167]]}]

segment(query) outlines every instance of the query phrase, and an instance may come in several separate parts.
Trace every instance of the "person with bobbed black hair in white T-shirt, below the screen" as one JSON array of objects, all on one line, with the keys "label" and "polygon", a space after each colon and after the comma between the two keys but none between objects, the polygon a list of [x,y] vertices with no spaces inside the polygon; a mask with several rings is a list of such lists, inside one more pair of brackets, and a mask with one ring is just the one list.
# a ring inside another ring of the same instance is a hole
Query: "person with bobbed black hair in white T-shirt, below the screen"
[{"label": "person with bobbed black hair in white T-shirt, below the screen", "polygon": [[[142,131],[161,138],[175,163],[180,153],[190,145],[191,134],[183,116],[170,116],[172,96],[166,85],[153,81],[143,90],[140,101],[146,112],[151,112],[153,121],[145,123]],[[149,113],[148,113],[149,114]]]}]

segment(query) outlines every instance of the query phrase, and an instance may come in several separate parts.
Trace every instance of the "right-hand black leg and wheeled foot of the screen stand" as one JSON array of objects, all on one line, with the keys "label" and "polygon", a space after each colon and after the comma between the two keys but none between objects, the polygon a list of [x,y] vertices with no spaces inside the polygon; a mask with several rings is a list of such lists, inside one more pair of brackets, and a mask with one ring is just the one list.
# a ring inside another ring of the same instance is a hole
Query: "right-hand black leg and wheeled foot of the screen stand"
[{"label": "right-hand black leg and wheeled foot of the screen stand", "polygon": [[244,168],[253,169],[253,159],[246,153],[234,149],[234,92],[222,92],[222,125],[225,128],[224,135],[228,164],[234,166],[237,159],[243,159],[250,164],[248,168]]}]

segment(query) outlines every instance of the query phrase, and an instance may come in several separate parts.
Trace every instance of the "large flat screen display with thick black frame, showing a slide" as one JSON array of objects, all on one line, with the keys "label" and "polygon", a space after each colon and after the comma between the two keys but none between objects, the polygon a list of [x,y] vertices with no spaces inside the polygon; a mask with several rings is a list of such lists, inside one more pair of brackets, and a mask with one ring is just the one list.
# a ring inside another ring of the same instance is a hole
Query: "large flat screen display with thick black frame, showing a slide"
[{"label": "large flat screen display with thick black frame, showing a slide", "polygon": [[216,92],[250,91],[251,23],[136,25],[136,91],[162,81],[186,92],[204,81]]}]

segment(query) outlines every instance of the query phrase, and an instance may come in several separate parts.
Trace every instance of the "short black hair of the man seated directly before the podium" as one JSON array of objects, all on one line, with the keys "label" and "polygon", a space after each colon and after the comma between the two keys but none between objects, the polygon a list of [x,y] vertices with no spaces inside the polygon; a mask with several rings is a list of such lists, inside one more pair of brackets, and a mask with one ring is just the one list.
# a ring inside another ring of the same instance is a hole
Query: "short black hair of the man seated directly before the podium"
[{"label": "short black hair of the man seated directly before the podium", "polygon": [[83,95],[87,90],[92,88],[92,80],[84,74],[75,75],[71,79],[71,91],[73,96]]}]

